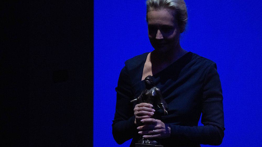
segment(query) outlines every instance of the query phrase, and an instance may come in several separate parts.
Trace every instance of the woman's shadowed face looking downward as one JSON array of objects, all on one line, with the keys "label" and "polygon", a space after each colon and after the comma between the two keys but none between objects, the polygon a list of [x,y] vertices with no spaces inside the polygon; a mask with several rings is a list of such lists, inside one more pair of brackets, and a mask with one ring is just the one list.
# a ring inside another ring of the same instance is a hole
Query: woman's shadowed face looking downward
[{"label": "woman's shadowed face looking downward", "polygon": [[171,9],[152,10],[147,14],[148,36],[159,53],[167,53],[179,43],[180,29]]}]

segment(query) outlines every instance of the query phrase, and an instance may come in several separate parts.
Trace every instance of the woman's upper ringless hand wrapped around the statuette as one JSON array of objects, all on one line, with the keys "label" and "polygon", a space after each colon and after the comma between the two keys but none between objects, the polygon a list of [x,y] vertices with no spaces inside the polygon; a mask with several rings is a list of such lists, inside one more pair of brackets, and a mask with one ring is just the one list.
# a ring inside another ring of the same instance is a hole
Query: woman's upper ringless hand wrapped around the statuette
[{"label": "woman's upper ringless hand wrapped around the statuette", "polygon": [[141,119],[151,118],[155,112],[155,110],[152,107],[153,105],[149,103],[140,103],[135,105],[135,124],[137,124],[137,121],[140,121]]}]

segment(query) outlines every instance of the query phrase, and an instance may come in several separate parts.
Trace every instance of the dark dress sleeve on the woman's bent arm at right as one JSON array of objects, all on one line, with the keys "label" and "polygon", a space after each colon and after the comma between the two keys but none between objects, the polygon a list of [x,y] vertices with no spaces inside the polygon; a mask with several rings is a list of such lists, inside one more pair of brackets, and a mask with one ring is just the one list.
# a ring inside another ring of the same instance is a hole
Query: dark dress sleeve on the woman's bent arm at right
[{"label": "dark dress sleeve on the woman's bent arm at right", "polygon": [[220,145],[224,137],[223,96],[216,64],[213,62],[205,73],[201,98],[204,126],[181,126],[170,124],[172,142],[177,145]]}]

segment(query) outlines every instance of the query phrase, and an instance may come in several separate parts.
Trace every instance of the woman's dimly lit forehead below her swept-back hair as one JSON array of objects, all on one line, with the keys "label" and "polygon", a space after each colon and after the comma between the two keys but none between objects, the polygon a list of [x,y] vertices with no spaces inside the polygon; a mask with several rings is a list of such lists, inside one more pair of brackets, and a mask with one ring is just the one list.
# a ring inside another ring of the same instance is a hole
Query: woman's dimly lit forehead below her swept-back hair
[{"label": "woman's dimly lit forehead below her swept-back hair", "polygon": [[171,9],[151,10],[147,14],[148,24],[150,25],[171,25],[176,22],[175,12]]}]

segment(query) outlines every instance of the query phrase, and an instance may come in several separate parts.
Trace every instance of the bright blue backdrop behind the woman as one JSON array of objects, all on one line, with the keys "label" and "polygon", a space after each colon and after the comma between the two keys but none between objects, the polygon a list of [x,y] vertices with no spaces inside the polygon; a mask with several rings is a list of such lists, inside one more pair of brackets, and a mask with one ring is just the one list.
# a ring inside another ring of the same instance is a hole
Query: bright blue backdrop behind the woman
[{"label": "bright blue backdrop behind the woman", "polygon": [[[262,146],[262,2],[185,2],[181,46],[216,62],[220,74],[226,128],[220,146]],[[112,136],[114,88],[124,61],[153,50],[145,15],[145,0],[94,1],[94,147],[130,144]]]}]

